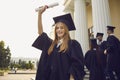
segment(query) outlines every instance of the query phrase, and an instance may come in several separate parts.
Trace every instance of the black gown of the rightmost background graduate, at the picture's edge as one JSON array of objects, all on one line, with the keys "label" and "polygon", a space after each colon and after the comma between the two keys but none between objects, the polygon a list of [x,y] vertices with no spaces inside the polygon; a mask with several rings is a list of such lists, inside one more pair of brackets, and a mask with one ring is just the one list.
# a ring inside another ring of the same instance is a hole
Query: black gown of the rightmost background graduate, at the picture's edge
[{"label": "black gown of the rightmost background graduate, at the picture's edge", "polygon": [[108,69],[115,71],[120,80],[120,41],[114,35],[110,35],[107,38],[107,46]]}]

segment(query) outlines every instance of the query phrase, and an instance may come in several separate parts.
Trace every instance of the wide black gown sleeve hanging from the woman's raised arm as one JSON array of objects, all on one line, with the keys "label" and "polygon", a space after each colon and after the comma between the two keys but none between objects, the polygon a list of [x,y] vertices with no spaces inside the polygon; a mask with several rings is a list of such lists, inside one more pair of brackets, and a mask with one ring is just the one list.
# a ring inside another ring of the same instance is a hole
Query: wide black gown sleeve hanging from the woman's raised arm
[{"label": "wide black gown sleeve hanging from the woman's raised arm", "polygon": [[51,43],[52,43],[52,40],[47,36],[46,33],[43,32],[33,42],[32,46],[37,48],[37,49],[40,49],[40,50],[43,50],[43,51],[47,51],[47,49],[49,48]]}]

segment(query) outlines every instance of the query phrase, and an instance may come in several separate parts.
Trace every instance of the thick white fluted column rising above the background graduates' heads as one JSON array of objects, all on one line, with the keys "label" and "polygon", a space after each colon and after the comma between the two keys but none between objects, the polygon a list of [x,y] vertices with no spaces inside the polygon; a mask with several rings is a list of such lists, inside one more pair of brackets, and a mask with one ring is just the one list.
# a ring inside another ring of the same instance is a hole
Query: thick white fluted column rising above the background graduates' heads
[{"label": "thick white fluted column rising above the background graduates' heads", "polygon": [[94,37],[97,32],[104,33],[103,39],[107,37],[107,25],[111,24],[109,0],[92,0],[93,31]]}]

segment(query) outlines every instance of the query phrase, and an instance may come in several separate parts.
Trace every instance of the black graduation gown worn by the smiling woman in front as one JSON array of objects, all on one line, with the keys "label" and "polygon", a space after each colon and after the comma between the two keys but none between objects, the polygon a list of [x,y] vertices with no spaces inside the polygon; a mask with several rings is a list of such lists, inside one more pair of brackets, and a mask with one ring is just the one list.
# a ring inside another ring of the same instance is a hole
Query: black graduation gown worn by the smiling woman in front
[{"label": "black graduation gown worn by the smiling woman in front", "polygon": [[53,49],[48,55],[48,49],[52,40],[46,33],[42,33],[34,43],[33,47],[42,50],[36,80],[69,80],[70,74],[75,80],[82,80],[84,72],[84,57],[80,44],[76,40],[69,41],[69,49],[60,53],[59,47]]}]

